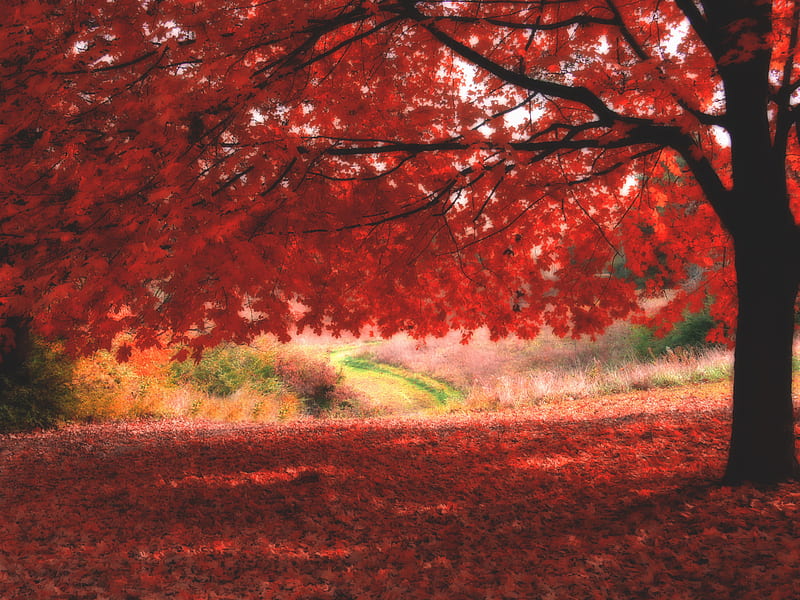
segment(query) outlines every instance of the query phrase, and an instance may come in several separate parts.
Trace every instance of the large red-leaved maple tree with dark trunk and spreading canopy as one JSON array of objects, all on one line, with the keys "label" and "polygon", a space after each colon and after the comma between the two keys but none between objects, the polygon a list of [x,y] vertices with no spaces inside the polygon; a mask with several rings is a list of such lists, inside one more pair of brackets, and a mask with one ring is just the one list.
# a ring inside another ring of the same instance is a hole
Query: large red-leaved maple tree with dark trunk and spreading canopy
[{"label": "large red-leaved maple tree with dark trunk and spreading canopy", "polygon": [[796,477],[799,10],[12,0],[3,312],[75,350],[592,335],[623,257],[649,293],[694,265],[663,317],[738,305],[726,477]]}]

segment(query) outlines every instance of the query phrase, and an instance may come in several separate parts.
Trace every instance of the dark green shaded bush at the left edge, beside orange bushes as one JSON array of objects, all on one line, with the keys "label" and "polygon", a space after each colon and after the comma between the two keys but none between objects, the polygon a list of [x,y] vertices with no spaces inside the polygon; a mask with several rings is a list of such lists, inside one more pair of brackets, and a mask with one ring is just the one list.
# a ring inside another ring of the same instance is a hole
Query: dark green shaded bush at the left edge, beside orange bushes
[{"label": "dark green shaded bush at the left edge, beside orange bushes", "polygon": [[35,340],[22,368],[0,375],[0,431],[53,427],[70,418],[72,373],[73,362],[58,347]]}]

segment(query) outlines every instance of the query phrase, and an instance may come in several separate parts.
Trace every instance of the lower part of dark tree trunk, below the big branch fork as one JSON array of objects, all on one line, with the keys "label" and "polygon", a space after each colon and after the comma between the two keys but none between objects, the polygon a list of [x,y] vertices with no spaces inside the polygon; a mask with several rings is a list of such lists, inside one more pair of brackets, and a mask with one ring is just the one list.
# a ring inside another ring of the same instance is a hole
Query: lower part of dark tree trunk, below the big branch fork
[{"label": "lower part of dark tree trunk, below the big branch fork", "polygon": [[800,475],[792,406],[798,286],[793,234],[773,230],[772,236],[734,240],[739,316],[733,425],[725,472],[729,484],[774,483]]}]

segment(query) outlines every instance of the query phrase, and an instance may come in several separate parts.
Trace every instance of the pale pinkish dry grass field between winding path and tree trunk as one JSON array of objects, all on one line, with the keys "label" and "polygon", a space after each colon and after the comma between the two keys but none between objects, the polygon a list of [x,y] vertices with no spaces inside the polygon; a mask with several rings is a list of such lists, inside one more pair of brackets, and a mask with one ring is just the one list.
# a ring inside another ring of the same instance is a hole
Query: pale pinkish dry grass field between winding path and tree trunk
[{"label": "pale pinkish dry grass field between winding path and tree trunk", "polygon": [[442,378],[466,390],[465,408],[497,410],[565,398],[724,380],[733,357],[725,349],[678,349],[636,360],[631,326],[618,323],[597,340],[561,339],[545,333],[535,340],[489,340],[476,333],[469,344],[451,336],[420,344],[396,337],[368,352],[376,360]]}]

